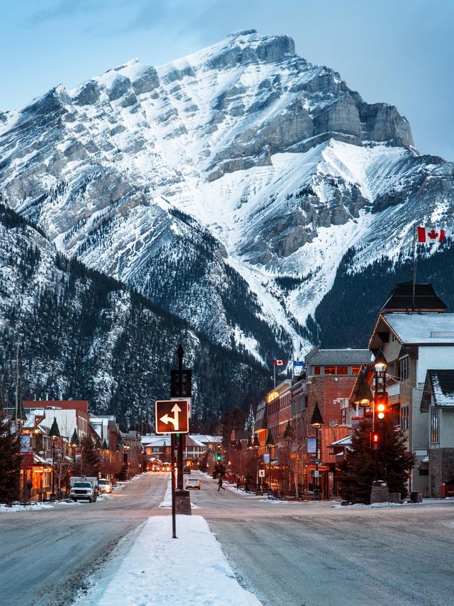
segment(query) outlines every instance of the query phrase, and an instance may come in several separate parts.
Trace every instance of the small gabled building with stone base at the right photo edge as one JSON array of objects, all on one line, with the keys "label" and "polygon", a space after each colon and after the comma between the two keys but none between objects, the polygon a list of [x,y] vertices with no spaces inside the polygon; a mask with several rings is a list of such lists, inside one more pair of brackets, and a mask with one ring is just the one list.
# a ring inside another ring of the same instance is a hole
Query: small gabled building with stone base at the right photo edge
[{"label": "small gabled building with stone base at the right photo edge", "polygon": [[429,439],[418,473],[427,476],[429,496],[439,497],[441,484],[454,483],[454,370],[427,370],[420,411]]}]

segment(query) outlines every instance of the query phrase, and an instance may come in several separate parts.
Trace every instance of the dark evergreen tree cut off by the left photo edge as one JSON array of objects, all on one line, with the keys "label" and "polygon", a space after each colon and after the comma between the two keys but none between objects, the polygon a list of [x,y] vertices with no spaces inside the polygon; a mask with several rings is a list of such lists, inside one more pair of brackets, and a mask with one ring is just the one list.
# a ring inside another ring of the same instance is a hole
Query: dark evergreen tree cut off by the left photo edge
[{"label": "dark evergreen tree cut off by the left photo edge", "polygon": [[0,503],[10,505],[20,498],[20,440],[10,431],[10,423],[0,413]]}]

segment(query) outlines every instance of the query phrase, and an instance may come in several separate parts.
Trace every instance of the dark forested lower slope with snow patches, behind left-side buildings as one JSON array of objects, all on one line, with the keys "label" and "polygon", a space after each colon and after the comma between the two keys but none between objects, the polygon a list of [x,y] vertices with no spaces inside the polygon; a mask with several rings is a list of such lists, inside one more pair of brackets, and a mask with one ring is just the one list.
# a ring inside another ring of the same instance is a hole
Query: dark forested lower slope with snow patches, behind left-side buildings
[{"label": "dark forested lower slope with snow patches, behind left-side buildings", "polygon": [[0,406],[14,402],[18,354],[20,396],[87,398],[91,412],[146,428],[152,403],[168,395],[180,339],[193,368],[195,428],[268,387],[268,370],[251,356],[69,261],[0,198]]}]

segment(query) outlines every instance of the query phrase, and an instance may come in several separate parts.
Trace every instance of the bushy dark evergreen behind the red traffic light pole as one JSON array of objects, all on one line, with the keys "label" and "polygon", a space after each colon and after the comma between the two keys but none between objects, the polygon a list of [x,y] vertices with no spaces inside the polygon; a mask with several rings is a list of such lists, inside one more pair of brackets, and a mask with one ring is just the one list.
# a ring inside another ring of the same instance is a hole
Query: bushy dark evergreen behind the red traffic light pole
[{"label": "bushy dark evergreen behind the red traffic light pole", "polygon": [[[370,493],[374,479],[388,483],[390,492],[407,496],[406,482],[414,465],[414,456],[406,449],[406,438],[402,430],[396,430],[390,420],[381,424],[381,448],[374,451],[371,441],[372,422],[361,421],[353,431],[351,450],[346,452],[339,464],[338,478],[340,493],[345,500],[353,503],[370,503]],[[379,477],[375,477],[375,457]]]}]

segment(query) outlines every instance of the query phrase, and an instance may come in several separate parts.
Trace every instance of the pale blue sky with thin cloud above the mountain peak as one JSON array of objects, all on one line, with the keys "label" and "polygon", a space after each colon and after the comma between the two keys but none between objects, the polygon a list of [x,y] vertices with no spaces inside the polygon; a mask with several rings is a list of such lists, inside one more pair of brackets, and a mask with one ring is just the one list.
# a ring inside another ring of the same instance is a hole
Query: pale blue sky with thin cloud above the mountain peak
[{"label": "pale blue sky with thin cloud above the mountain peak", "polygon": [[139,57],[161,64],[239,29],[289,34],[365,101],[393,103],[421,152],[454,160],[454,0],[2,0],[0,110]]}]

